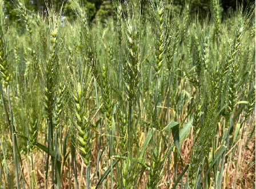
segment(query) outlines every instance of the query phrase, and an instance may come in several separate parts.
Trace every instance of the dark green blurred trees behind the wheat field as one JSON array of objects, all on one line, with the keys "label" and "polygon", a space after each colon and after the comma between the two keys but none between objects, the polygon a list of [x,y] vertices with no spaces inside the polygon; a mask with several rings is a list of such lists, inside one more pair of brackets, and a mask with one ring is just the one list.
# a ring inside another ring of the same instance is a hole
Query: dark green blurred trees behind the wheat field
[{"label": "dark green blurred trees behind the wheat field", "polygon": [[[15,11],[15,0],[4,1],[7,17],[10,20],[17,20],[18,15],[17,11]],[[83,5],[84,9],[87,10],[90,20],[94,20],[95,18],[102,20],[113,15],[114,1],[120,1],[121,3],[125,3],[129,0],[80,0],[81,5]],[[63,5],[63,7],[65,7],[65,11],[63,13],[65,17],[69,20],[75,19],[75,14],[69,6],[68,0],[24,0],[24,2],[27,9],[29,9],[30,11],[40,11],[41,13],[44,13],[47,10],[47,6],[54,7],[54,9],[58,11]],[[205,17],[205,15],[210,11],[209,0],[173,0],[174,9],[183,9],[185,2],[190,2],[191,14],[198,13],[202,16],[202,18]],[[254,0],[221,0],[220,2],[223,9],[222,14],[225,17],[227,17],[229,13],[235,10],[237,7],[243,6],[243,10],[246,10],[247,7],[249,7],[249,9],[253,7],[255,3]],[[142,0],[142,3],[146,5],[147,1]]]}]

